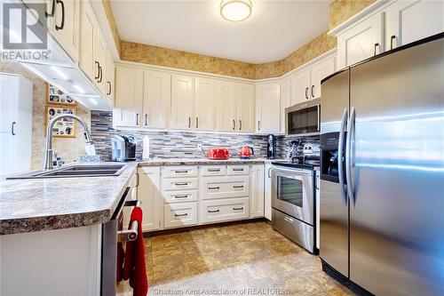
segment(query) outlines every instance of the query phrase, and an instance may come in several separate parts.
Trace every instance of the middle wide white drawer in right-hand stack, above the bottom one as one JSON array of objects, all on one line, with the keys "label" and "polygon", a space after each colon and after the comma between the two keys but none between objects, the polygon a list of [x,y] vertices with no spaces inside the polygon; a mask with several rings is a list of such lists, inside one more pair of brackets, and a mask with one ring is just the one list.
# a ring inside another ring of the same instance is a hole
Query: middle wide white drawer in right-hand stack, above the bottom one
[{"label": "middle wide white drawer in right-hand stack, above the bottom one", "polygon": [[250,196],[249,176],[202,178],[199,184],[203,200]]}]

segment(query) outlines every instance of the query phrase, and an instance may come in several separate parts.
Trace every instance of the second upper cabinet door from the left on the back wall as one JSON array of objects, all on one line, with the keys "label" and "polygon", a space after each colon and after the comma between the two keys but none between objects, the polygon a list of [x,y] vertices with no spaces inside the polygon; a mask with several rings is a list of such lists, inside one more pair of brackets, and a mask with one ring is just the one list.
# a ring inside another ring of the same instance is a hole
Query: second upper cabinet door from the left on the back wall
[{"label": "second upper cabinet door from the left on the back wall", "polygon": [[143,74],[143,126],[166,128],[171,101],[171,76],[159,71]]}]

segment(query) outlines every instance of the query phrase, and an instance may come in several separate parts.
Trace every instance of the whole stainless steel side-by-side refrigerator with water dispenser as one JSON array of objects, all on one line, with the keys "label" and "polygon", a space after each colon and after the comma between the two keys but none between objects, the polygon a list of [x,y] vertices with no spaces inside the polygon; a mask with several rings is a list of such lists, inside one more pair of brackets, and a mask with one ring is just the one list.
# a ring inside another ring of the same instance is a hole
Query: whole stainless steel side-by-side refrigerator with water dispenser
[{"label": "whole stainless steel side-by-side refrigerator with water dispenser", "polygon": [[444,33],[327,77],[321,110],[324,270],[444,295]]}]

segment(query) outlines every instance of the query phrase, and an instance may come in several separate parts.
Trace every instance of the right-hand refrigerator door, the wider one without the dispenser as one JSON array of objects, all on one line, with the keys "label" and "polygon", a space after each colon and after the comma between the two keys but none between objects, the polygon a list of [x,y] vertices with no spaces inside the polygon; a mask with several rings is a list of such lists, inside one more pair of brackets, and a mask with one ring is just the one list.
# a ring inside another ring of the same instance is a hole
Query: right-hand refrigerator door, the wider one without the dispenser
[{"label": "right-hand refrigerator door, the wider one without the dispenser", "polygon": [[444,295],[443,77],[442,38],[351,68],[350,279],[377,295]]}]

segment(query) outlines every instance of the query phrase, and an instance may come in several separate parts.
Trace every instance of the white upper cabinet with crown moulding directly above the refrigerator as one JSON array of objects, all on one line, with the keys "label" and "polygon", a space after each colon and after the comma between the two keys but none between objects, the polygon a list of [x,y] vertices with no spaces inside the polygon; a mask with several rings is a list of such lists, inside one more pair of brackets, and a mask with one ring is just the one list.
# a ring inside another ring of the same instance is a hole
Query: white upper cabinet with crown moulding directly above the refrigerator
[{"label": "white upper cabinet with crown moulding directly above the refrigerator", "polygon": [[337,68],[444,31],[444,2],[377,1],[329,31],[337,36]]}]

